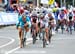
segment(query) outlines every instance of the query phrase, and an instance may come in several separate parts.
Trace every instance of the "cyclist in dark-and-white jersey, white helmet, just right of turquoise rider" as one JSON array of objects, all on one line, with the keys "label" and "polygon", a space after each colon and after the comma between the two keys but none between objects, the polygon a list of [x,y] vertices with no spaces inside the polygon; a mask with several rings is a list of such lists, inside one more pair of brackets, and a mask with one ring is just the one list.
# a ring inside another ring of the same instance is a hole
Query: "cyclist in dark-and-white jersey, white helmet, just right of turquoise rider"
[{"label": "cyclist in dark-and-white jersey, white helmet, just right of turquoise rider", "polygon": [[33,11],[31,13],[31,23],[32,23],[32,28],[31,29],[32,29],[32,31],[35,31],[35,35],[37,37],[37,33],[38,33],[38,18],[37,18],[36,11]]}]

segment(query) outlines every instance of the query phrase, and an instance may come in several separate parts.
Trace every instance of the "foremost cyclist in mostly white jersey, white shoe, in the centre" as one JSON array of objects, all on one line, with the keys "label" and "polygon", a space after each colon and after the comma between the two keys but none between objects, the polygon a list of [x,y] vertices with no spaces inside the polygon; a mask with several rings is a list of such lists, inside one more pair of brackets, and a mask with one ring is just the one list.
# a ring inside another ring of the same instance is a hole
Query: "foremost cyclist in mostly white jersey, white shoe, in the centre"
[{"label": "foremost cyclist in mostly white jersey, white shoe, in the centre", "polygon": [[48,38],[49,38],[49,35],[48,35],[48,22],[49,22],[49,14],[46,14],[44,16],[44,14],[42,14],[41,16],[41,19],[40,19],[40,24],[41,24],[41,27],[45,27],[45,32],[46,32],[46,36],[45,36],[45,39],[46,39],[46,44],[48,45],[49,44],[49,41],[48,41]]}]

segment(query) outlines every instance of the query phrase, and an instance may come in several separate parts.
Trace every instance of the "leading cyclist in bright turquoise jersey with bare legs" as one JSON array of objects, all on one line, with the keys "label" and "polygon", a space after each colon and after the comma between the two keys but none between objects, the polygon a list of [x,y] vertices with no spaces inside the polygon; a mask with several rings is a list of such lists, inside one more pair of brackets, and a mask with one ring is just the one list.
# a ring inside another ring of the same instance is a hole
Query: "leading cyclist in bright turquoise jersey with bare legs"
[{"label": "leading cyclist in bright turquoise jersey with bare legs", "polygon": [[29,20],[27,19],[27,17],[22,13],[20,13],[18,21],[16,23],[16,28],[19,31],[19,38],[20,38],[20,48],[23,47],[23,31],[25,29],[26,32],[29,31],[30,28],[30,24],[29,24]]}]

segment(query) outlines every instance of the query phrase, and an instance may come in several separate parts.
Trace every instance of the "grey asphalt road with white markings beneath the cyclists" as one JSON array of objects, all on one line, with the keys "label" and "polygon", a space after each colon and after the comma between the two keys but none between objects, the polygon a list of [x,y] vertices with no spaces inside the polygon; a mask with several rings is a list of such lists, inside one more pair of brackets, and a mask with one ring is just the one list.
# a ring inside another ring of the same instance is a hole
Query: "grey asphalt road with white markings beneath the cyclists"
[{"label": "grey asphalt road with white markings beneath the cyclists", "polygon": [[70,35],[61,31],[53,35],[51,43],[42,47],[42,41],[37,40],[32,44],[31,34],[27,34],[24,48],[19,48],[18,31],[15,26],[0,29],[0,54],[75,54],[75,32]]}]

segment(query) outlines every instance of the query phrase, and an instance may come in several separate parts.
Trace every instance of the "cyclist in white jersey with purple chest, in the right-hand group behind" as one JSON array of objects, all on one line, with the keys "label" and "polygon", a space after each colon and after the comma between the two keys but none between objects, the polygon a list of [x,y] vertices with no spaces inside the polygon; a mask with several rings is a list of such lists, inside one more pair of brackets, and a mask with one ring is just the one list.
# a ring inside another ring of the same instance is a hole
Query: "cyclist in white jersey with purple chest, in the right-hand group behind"
[{"label": "cyclist in white jersey with purple chest, in the right-hand group behind", "polygon": [[[61,29],[64,29],[65,21],[66,21],[66,14],[64,10],[62,9],[58,15],[58,28],[61,26]],[[58,30],[58,28],[56,30]]]}]

